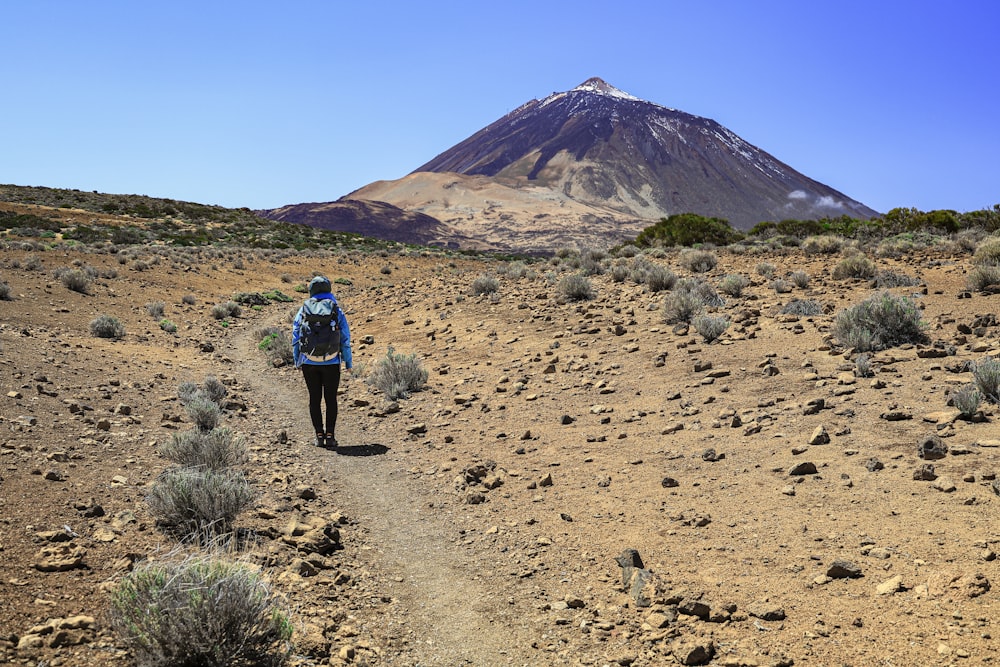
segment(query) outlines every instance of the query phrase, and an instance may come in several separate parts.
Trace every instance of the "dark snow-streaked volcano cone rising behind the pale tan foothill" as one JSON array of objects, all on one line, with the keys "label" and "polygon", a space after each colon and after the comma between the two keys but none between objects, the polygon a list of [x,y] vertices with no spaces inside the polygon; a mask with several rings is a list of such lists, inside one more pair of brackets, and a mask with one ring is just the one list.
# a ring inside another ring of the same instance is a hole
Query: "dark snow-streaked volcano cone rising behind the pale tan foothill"
[{"label": "dark snow-streaked volcano cone rising behind the pale tan foothill", "polygon": [[744,229],[764,220],[876,213],[713,120],[600,79],[532,100],[416,171],[509,178],[627,216],[693,212]]}]

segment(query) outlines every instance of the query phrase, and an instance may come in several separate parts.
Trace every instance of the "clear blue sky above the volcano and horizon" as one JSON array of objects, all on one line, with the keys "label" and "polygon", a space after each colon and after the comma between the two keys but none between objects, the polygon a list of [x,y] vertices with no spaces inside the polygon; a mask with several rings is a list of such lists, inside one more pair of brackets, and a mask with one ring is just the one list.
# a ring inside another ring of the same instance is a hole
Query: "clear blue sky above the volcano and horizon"
[{"label": "clear blue sky above the volcano and horizon", "polygon": [[879,211],[1000,203],[995,0],[9,0],[0,183],[274,208],[591,76]]}]

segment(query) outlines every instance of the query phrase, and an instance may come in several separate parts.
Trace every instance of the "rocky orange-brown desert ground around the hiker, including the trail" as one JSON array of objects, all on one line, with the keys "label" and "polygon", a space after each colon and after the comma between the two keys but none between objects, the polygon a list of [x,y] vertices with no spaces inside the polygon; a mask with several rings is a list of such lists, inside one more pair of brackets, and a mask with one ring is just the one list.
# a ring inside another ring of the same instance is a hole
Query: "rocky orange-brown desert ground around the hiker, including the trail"
[{"label": "rocky orange-brown desert ground around the hiker, including the trail", "polygon": [[[877,353],[873,377],[831,335],[872,287],[799,250],[718,251],[703,277],[752,284],[711,344],[608,275],[562,303],[551,263],[491,297],[470,285],[503,263],[419,253],[4,250],[0,663],[129,664],[107,591],[176,548],[144,496],[157,444],[191,427],[178,385],[207,376],[250,446],[244,557],[288,599],[297,664],[991,663],[997,406],[964,421],[948,395],[1000,354],[981,317],[1000,296],[966,292],[947,247],[878,260],[923,281],[893,291],[931,342]],[[776,292],[763,261],[809,285]],[[74,266],[89,293],[53,275]],[[340,279],[355,340],[339,453],[311,446],[298,372],[257,349],[297,304],[211,313],[297,302],[313,271]],[[826,313],[781,315],[793,298]],[[91,335],[101,314],[122,340]],[[364,382],[390,345],[430,372],[395,405]]]}]

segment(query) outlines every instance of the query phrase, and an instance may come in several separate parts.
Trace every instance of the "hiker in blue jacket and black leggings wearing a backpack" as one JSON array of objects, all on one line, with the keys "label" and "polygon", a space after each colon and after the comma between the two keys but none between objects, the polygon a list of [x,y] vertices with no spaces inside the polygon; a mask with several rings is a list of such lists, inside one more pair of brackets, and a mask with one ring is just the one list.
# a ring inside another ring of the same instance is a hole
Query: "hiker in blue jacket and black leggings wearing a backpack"
[{"label": "hiker in blue jacket and black leggings wearing a backpack", "polygon": [[[331,314],[336,323],[334,344],[325,353],[303,349],[306,316],[310,313]],[[309,298],[303,302],[292,322],[292,356],[295,367],[302,369],[302,377],[309,391],[309,418],[316,431],[315,444],[330,449],[337,448],[337,390],[340,388],[340,368],[353,368],[351,332],[344,311],[337,305],[330,280],[316,276],[309,282]],[[323,406],[326,406],[326,421]]]}]

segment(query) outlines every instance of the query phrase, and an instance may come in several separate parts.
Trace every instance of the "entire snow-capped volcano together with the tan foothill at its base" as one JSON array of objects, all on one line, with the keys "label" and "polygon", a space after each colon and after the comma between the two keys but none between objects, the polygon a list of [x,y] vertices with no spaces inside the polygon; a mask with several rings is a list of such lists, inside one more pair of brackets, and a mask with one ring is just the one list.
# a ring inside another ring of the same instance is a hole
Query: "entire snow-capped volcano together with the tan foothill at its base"
[{"label": "entire snow-capped volcano together with the tan foothill at its base", "polygon": [[876,215],[714,120],[596,77],[531,100],[411,174],[348,198],[436,218],[441,226],[427,233],[437,243],[522,252],[607,246],[674,213],[741,229]]}]

